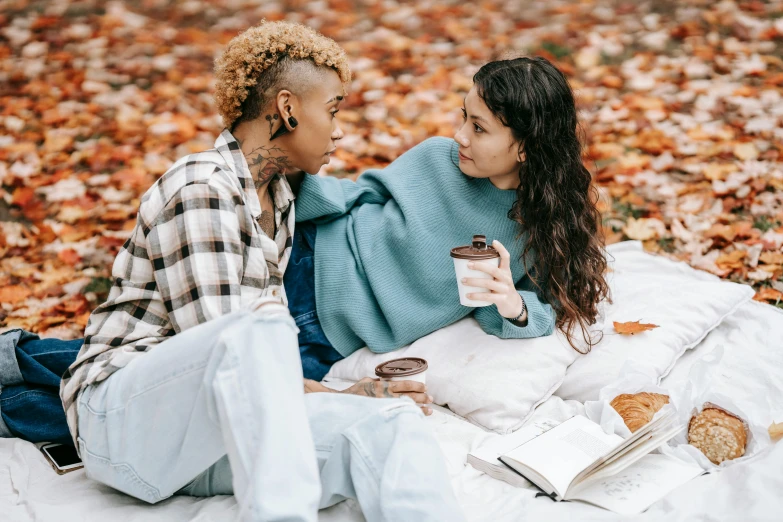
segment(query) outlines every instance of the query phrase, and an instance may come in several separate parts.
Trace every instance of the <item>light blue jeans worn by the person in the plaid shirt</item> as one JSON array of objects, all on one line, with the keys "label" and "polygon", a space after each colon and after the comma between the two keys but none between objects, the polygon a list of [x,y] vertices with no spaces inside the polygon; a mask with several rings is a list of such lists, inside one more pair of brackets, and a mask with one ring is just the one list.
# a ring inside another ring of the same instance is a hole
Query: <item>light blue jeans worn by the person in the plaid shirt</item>
[{"label": "light blue jeans worn by the person in the plaid shirt", "polygon": [[304,394],[297,329],[266,305],[191,328],[79,396],[90,478],[150,503],[235,494],[240,520],[464,520],[410,399]]}]

